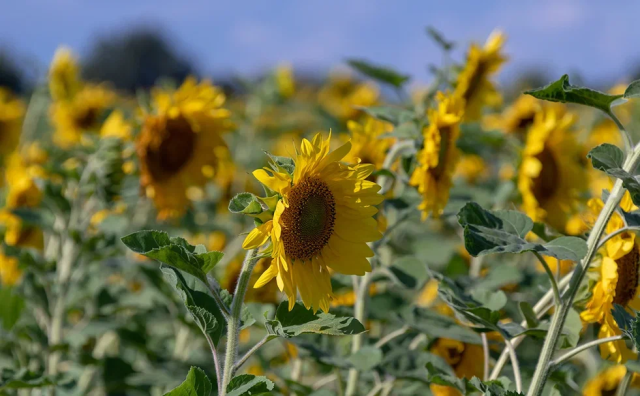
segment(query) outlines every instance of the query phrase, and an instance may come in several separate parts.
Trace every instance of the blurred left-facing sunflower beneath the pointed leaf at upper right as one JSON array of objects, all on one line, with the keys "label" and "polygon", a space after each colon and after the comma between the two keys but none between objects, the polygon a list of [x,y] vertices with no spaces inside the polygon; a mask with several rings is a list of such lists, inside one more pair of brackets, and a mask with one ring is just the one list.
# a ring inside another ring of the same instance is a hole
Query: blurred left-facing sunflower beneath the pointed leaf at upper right
[{"label": "blurred left-facing sunflower beneath the pointed leaf at upper right", "polygon": [[536,114],[522,153],[518,189],[522,208],[533,221],[545,220],[564,231],[587,187],[580,163],[581,146],[569,128],[571,114],[558,116],[553,108]]}]

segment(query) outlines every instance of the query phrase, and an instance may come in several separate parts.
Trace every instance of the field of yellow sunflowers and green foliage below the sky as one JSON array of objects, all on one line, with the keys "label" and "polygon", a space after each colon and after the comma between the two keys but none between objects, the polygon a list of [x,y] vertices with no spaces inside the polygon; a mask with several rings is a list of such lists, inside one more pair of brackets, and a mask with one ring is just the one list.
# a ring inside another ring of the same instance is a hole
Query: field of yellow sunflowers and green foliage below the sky
[{"label": "field of yellow sunflowers and green foliage below the sky", "polygon": [[640,394],[640,81],[429,32],[418,90],[0,87],[0,395]]}]

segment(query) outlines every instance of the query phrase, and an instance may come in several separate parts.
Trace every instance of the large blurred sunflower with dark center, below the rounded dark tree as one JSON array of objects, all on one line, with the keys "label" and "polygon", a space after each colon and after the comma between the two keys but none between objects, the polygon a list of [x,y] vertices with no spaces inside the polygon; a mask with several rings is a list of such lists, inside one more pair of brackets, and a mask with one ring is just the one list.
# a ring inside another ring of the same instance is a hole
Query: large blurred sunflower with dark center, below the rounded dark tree
[{"label": "large blurred sunflower with dark center, below the rounded dark tree", "polygon": [[215,176],[222,133],[231,128],[224,94],[208,81],[188,78],[176,91],[153,90],[154,112],[146,115],[136,140],[140,183],[158,218],[182,215],[189,187]]}]

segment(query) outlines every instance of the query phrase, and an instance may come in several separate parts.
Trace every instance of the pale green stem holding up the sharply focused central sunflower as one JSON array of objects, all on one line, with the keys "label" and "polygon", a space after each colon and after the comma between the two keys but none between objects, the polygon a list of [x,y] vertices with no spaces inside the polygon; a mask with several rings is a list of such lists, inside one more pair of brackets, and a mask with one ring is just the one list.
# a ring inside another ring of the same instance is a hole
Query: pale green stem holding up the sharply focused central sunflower
[{"label": "pale green stem holding up the sharply focused central sunflower", "polygon": [[222,374],[222,389],[221,396],[227,394],[227,385],[233,378],[234,364],[236,356],[238,355],[238,334],[240,333],[240,316],[242,314],[242,303],[244,302],[244,295],[249,287],[249,279],[253,268],[256,266],[256,256],[258,255],[258,249],[252,249],[247,252],[242,263],[242,270],[238,277],[238,284],[236,285],[236,291],[233,294],[233,301],[231,302],[231,317],[227,322],[227,349],[224,356],[224,372]]}]

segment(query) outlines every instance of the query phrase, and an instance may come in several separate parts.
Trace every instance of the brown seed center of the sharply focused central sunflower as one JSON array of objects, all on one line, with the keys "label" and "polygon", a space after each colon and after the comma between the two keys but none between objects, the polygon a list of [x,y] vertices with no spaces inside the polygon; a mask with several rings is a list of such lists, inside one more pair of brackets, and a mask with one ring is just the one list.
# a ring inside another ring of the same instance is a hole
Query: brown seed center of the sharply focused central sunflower
[{"label": "brown seed center of the sharply focused central sunflower", "polygon": [[308,260],[329,243],[336,221],[336,200],[329,186],[307,178],[289,192],[289,207],[282,212],[282,241],[287,257]]}]

